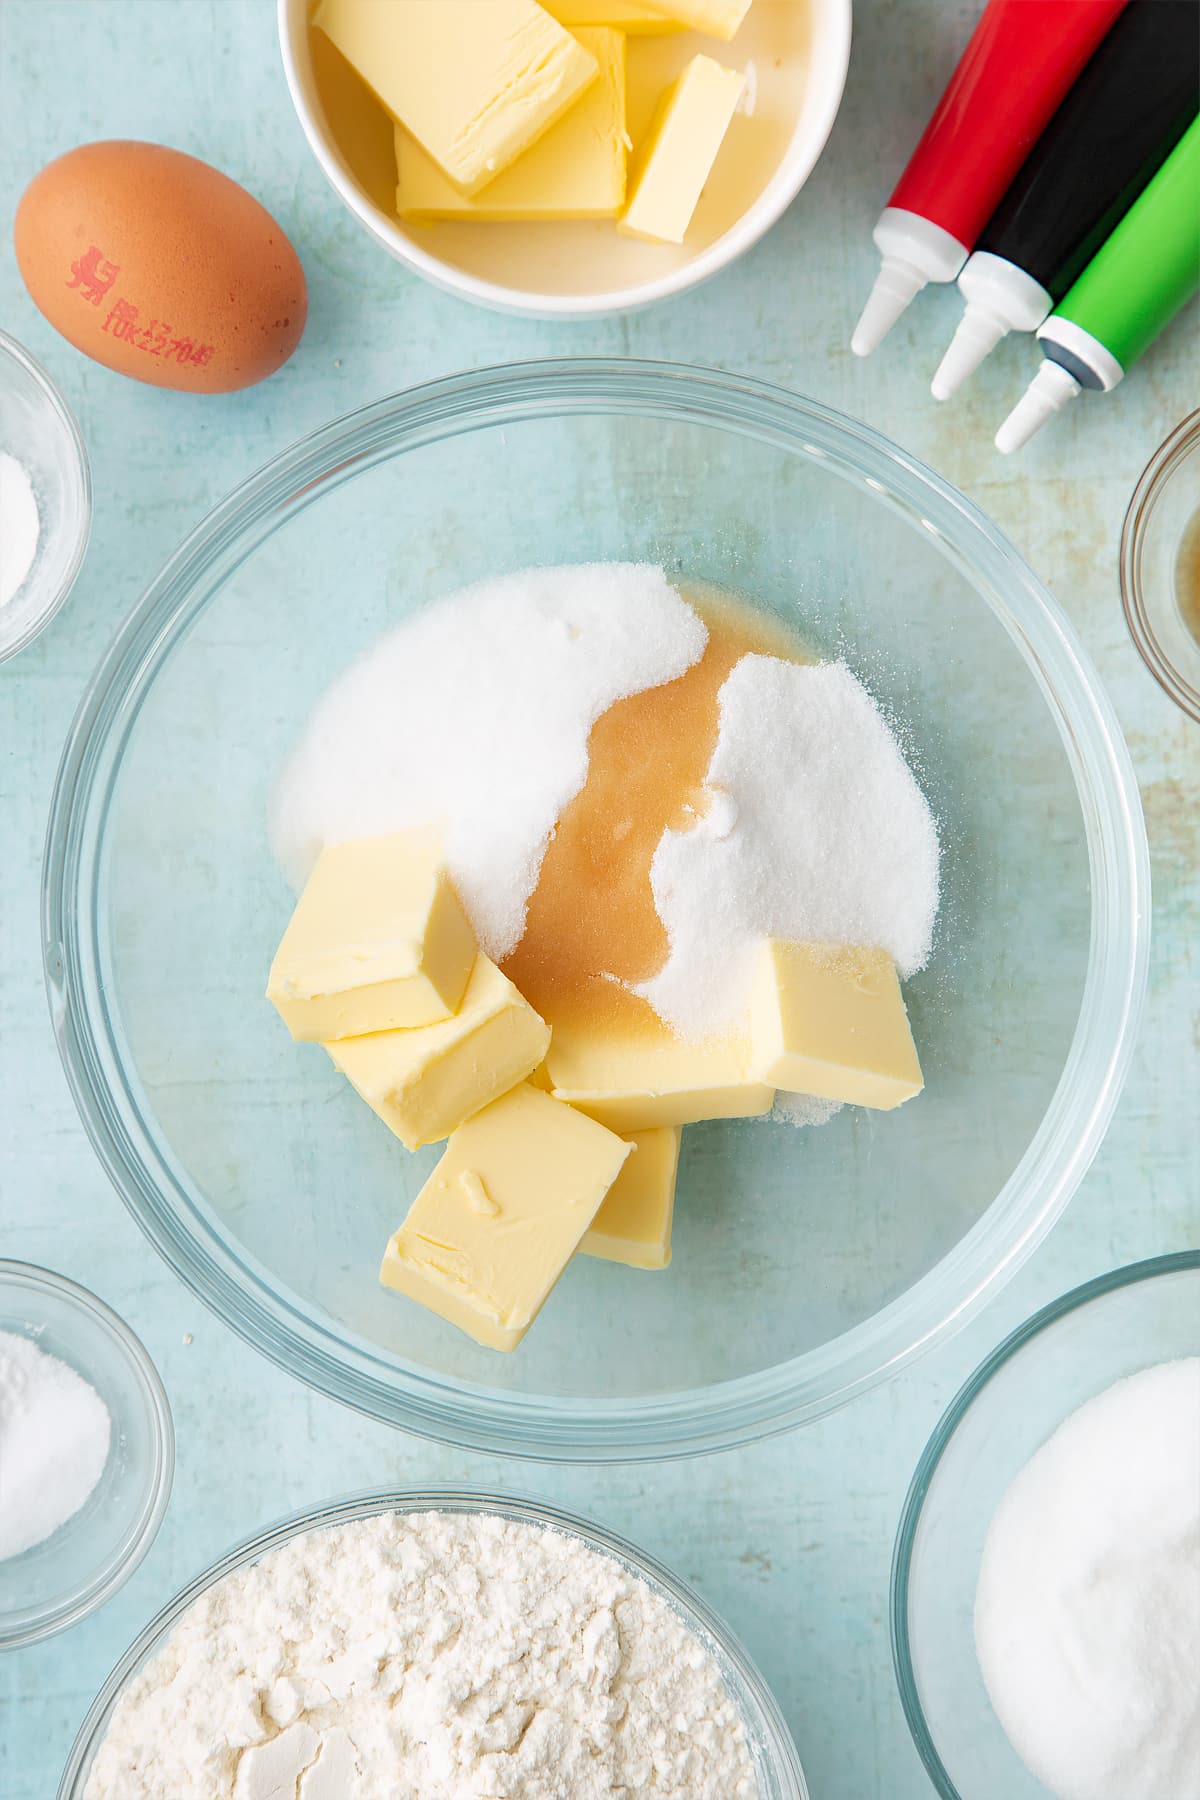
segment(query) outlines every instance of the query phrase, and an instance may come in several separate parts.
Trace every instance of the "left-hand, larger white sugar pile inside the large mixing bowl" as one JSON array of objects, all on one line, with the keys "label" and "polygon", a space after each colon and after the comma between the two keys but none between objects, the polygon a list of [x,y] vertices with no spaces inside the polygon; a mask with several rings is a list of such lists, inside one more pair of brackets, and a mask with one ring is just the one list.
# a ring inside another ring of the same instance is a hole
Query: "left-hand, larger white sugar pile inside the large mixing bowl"
[{"label": "left-hand, larger white sugar pile inside the large mixing bowl", "polygon": [[642,563],[527,569],[426,607],[317,706],[279,785],[277,860],[300,887],[324,844],[437,823],[484,950],[507,956],[592,725],[707,635]]}]

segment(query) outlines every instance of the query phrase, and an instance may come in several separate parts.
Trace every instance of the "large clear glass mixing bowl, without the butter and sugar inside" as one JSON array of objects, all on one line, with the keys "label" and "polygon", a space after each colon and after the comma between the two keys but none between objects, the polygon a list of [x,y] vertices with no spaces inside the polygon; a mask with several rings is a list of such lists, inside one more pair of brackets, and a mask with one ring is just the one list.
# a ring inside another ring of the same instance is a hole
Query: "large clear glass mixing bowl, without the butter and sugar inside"
[{"label": "large clear glass mixing bowl, without the butter and sugar inside", "polygon": [[[822,1129],[689,1129],[671,1269],[578,1258],[506,1357],[378,1285],[437,1152],[405,1156],[263,999],[291,904],[266,814],[309,707],[385,626],[480,576],[599,558],[752,596],[896,722],[945,848],[934,958],[907,988],[927,1089]],[[1146,943],[1128,754],[1011,545],[851,419],[633,362],[435,382],[245,482],[104,657],[45,868],[67,1073],[178,1274],[322,1391],[540,1458],[763,1436],[961,1325],[1101,1141]]]}]

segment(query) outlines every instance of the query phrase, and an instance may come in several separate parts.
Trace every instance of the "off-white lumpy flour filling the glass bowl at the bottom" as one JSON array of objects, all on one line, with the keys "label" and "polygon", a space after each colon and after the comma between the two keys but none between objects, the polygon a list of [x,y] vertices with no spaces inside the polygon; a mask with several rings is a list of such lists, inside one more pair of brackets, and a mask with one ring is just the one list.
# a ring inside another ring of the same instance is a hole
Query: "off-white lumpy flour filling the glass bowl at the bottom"
[{"label": "off-white lumpy flour filling the glass bowl at the bottom", "polygon": [[709,1651],[560,1532],[383,1514],[200,1598],[86,1800],[756,1800]]}]

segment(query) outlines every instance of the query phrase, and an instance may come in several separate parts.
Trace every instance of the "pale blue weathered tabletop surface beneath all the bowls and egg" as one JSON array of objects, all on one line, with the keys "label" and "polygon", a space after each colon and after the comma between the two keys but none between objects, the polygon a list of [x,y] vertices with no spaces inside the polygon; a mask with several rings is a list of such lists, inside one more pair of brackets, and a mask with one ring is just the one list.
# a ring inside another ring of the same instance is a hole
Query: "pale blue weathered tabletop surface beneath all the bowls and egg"
[{"label": "pale blue weathered tabletop surface beneath all the bowls and egg", "polygon": [[[1018,461],[991,430],[1033,367],[1007,344],[961,403],[927,382],[948,293],[860,364],[871,221],[966,40],[975,4],[860,0],[829,149],[777,230],[711,286],[633,319],[545,326],[471,310],[394,266],[338,207],[291,115],[270,0],[0,0],[0,324],[79,414],[95,529],[45,637],[0,670],[0,1249],[86,1282],[144,1337],[171,1393],[178,1476],[151,1555],[95,1618],[0,1658],[0,1795],[47,1800],[86,1705],[140,1624],[234,1537],[374,1483],[497,1483],[604,1519],[730,1620],[774,1685],[815,1800],[928,1793],[900,1714],[887,1571],[905,1485],[943,1404],[1036,1305],[1114,1264],[1200,1244],[1200,734],[1159,693],[1121,617],[1130,490],[1196,403],[1196,313],[1108,400],[1079,401]],[[223,400],[135,387],[76,355],[16,275],[11,212],[52,155],[94,137],[178,144],[246,182],[304,259],[304,344]],[[117,619],[182,535],[293,437],[452,369],[608,351],[745,369],[889,432],[984,506],[1060,596],[1128,734],[1150,826],[1155,947],[1133,1073],[1067,1219],[991,1309],[847,1411],[700,1463],[561,1471],[464,1456],[318,1399],[254,1355],[146,1246],[95,1165],[50,1037],[38,949],[41,837],[61,742]]]}]

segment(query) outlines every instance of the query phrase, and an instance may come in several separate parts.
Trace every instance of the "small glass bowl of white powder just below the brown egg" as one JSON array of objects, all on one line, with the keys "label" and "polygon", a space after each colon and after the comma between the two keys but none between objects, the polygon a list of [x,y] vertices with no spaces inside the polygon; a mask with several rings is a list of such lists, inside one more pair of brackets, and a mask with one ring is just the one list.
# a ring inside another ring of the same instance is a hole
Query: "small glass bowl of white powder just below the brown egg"
[{"label": "small glass bowl of white powder just below the brown egg", "polygon": [[90,529],[79,427],[45,369],[0,331],[0,662],[63,605]]}]

